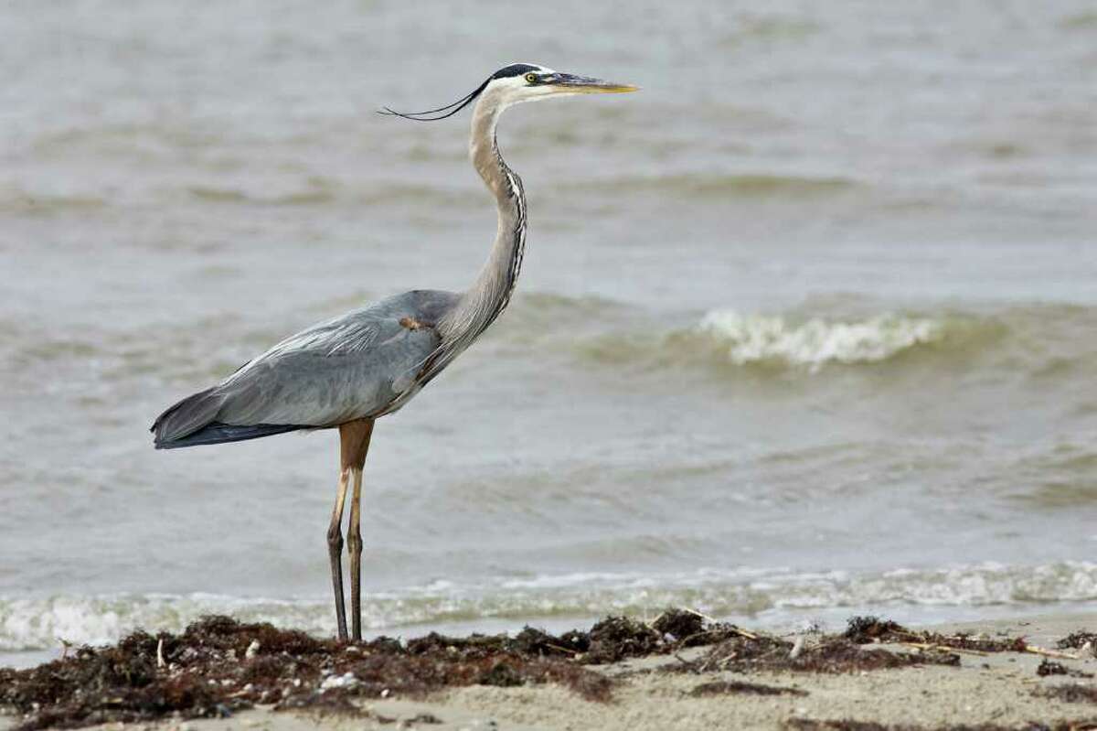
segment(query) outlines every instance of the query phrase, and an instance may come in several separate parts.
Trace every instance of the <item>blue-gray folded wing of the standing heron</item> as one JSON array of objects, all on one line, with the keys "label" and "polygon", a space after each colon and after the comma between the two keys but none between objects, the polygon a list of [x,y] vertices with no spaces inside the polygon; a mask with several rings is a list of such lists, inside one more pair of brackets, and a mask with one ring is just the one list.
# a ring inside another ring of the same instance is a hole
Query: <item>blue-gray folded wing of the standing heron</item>
[{"label": "blue-gray folded wing of the standing heron", "polygon": [[433,324],[456,299],[405,292],[297,333],[165,412],[157,441],[211,424],[325,427],[395,411],[419,387],[416,376],[440,345]]}]

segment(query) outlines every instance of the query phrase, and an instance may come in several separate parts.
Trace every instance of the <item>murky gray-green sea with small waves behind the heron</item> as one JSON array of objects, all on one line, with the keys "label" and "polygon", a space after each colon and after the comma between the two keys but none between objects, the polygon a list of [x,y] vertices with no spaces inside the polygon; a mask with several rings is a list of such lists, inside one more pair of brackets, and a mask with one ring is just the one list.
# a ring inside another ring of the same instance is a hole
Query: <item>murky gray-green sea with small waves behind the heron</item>
[{"label": "murky gray-green sea with small waves behind the heron", "polygon": [[522,278],[378,423],[371,632],[1097,606],[1092,3],[2,12],[0,660],[210,611],[333,632],[333,435],[147,428],[471,282],[467,114],[373,112],[514,60],[644,90],[505,117]]}]

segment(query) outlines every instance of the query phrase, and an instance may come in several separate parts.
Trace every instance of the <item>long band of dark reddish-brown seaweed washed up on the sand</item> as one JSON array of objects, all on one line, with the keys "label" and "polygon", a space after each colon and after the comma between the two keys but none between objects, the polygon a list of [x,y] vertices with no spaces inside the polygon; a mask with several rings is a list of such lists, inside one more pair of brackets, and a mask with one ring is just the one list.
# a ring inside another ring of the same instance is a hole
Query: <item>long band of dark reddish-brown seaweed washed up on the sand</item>
[{"label": "long band of dark reddish-brown seaweed washed up on the sand", "polygon": [[[607,701],[619,681],[590,666],[649,655],[675,654],[679,662],[661,670],[676,672],[849,673],[959,665],[955,652],[1033,650],[1024,638],[945,637],[871,617],[851,619],[842,634],[818,636],[812,643],[805,637],[793,642],[749,632],[688,609],[669,609],[647,623],[608,617],[589,631],[558,636],[527,627],[513,637],[430,633],[360,643],[204,617],[179,634],[136,631],[115,645],[82,646],[37,667],[0,668],[0,709],[21,713],[23,731],[227,717],[257,705],[363,716],[363,699],[422,697],[470,685],[553,683],[581,698]],[[915,651],[862,646],[881,642],[913,645]],[[708,650],[695,660],[677,654],[702,645]],[[692,695],[801,693],[723,681],[702,684]]]}]

